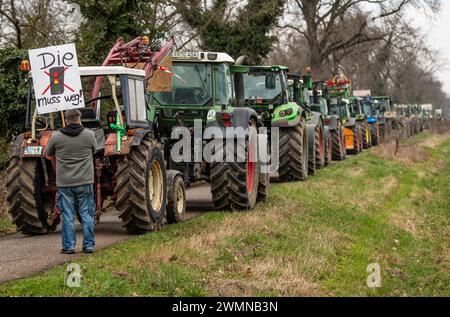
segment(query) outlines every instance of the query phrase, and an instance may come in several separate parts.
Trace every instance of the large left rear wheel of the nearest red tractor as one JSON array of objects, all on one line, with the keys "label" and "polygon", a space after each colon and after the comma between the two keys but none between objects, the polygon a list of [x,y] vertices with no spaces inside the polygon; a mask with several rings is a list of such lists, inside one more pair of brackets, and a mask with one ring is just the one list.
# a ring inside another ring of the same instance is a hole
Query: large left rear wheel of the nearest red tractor
[{"label": "large left rear wheel of the nearest red tractor", "polygon": [[17,230],[25,235],[42,235],[56,230],[60,218],[50,223],[54,194],[44,193],[44,171],[37,159],[11,159],[7,171],[8,211]]}]

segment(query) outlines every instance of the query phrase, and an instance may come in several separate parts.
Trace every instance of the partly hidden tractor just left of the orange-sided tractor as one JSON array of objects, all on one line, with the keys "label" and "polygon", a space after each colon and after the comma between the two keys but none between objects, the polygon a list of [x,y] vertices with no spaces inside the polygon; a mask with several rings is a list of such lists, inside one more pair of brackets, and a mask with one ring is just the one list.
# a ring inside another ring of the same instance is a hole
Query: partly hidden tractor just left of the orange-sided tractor
[{"label": "partly hidden tractor just left of the orange-sided tractor", "polygon": [[[312,111],[320,112],[327,128],[327,164],[332,160],[342,161],[347,156],[345,149],[344,127],[339,116],[329,111],[328,85],[323,81],[315,81],[309,91],[310,107]],[[331,143],[331,144],[330,144]]]}]

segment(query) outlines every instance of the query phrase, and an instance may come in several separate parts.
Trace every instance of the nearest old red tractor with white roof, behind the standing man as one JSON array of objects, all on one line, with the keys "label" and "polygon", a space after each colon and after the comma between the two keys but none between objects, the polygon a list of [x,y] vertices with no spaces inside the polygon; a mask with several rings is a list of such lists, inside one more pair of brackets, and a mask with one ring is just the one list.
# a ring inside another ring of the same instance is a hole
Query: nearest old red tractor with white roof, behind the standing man
[{"label": "nearest old red tractor with white roof, behind the standing man", "polygon": [[[172,46],[173,40],[155,48],[145,37],[128,44],[119,39],[110,56],[120,55],[122,50],[139,51],[148,55],[148,69],[153,71]],[[80,109],[82,124],[94,131],[98,143],[93,162],[97,223],[107,198],[112,198],[123,226],[132,234],[157,230],[166,220],[181,221],[186,205],[184,184],[176,181],[178,174],[168,171],[166,175],[161,146],[145,111],[146,72],[121,66],[79,69],[83,95],[86,98],[92,92],[86,107]],[[40,235],[56,230],[60,222],[56,159],[46,156],[45,149],[52,133],[64,126],[64,117],[62,113],[38,114],[32,81],[30,73],[28,131],[20,134],[10,149],[7,201],[17,229],[26,235]],[[168,197],[167,187],[180,194]]]}]

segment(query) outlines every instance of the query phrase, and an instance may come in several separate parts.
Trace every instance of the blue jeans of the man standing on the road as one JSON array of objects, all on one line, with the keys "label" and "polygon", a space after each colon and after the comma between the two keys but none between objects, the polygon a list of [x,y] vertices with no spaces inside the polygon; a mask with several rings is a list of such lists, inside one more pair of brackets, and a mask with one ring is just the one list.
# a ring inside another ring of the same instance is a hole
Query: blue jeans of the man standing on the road
[{"label": "blue jeans of the man standing on the road", "polygon": [[58,208],[62,215],[62,248],[75,250],[76,234],[74,216],[78,211],[82,221],[83,251],[94,251],[94,186],[58,188]]}]

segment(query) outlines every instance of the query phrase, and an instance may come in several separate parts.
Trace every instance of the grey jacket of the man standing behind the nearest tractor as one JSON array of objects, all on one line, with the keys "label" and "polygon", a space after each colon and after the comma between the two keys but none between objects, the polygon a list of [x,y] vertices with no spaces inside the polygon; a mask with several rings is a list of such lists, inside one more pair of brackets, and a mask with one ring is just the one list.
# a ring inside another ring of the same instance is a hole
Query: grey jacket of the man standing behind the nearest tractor
[{"label": "grey jacket of the man standing behind the nearest tractor", "polygon": [[56,155],[56,186],[76,187],[94,184],[97,141],[94,132],[69,125],[53,133],[46,154]]}]

